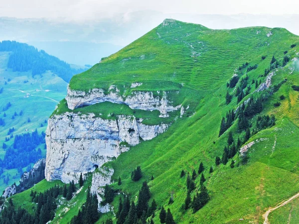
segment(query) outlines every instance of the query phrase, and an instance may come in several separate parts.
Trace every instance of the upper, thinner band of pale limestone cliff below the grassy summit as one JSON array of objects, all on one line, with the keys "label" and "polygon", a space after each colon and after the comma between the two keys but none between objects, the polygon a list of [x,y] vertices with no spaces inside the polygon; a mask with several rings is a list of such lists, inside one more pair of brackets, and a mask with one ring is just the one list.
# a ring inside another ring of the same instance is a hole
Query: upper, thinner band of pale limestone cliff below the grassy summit
[{"label": "upper, thinner band of pale limestone cliff below the grassy summit", "polygon": [[[133,86],[135,87],[136,85]],[[108,94],[105,94],[102,89],[92,89],[86,93],[84,91],[74,91],[68,87],[65,99],[68,108],[71,110],[108,101],[116,104],[126,104],[132,109],[158,110],[161,117],[166,117],[168,116],[167,112],[178,110],[181,107],[181,105],[172,106],[167,100],[166,92],[163,92],[161,99],[158,96],[153,96],[152,92],[142,91],[135,91],[128,97],[125,97],[120,95],[120,91],[115,86],[109,88]]]}]

